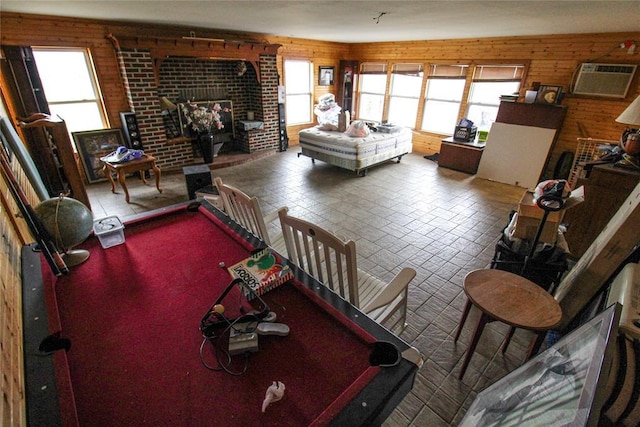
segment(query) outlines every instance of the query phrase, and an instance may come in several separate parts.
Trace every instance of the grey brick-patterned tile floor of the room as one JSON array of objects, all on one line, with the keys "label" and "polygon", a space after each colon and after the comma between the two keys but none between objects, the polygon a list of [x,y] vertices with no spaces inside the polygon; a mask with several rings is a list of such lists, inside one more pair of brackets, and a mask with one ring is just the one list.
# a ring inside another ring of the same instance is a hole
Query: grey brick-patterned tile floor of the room
[{"label": "grey brick-patterned tile floor of the room", "polygon": [[[518,331],[506,354],[499,347],[506,326],[485,329],[462,381],[461,359],[477,313],[472,311],[457,344],[453,334],[466,301],[465,274],[489,265],[494,245],[516,208],[522,188],[438,168],[419,154],[375,167],[365,177],[298,157],[298,147],[249,160],[216,158],[213,176],[261,202],[264,213],[290,213],[354,239],[359,266],[390,279],[401,266],[418,272],[410,285],[409,326],[402,337],[425,363],[412,392],[387,426],[457,425],[476,394],[519,366],[531,335]],[[227,166],[228,167],[222,167]],[[187,200],[182,171],[164,172],[159,194],[152,180],[127,179],[131,203],[107,182],[89,186],[95,217],[128,215]]]}]

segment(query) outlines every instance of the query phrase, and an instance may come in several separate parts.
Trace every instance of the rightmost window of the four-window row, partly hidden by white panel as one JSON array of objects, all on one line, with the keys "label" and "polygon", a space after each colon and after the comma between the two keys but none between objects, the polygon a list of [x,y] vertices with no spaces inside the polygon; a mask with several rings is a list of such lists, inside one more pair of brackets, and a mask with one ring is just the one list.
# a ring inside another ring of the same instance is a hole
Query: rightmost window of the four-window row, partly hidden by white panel
[{"label": "rightmost window of the four-window row, partly hidden by white panel", "polygon": [[520,89],[524,65],[478,65],[469,91],[467,118],[478,129],[489,128],[496,120],[500,95],[511,95]]}]

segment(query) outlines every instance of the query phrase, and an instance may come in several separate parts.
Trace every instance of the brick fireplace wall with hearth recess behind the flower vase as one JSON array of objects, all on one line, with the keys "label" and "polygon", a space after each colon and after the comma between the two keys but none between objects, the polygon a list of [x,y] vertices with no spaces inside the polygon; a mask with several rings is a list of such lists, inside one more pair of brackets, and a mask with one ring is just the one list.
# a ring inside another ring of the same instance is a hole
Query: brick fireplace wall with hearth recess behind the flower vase
[{"label": "brick fireplace wall with hearth recess behind the flower vase", "polygon": [[[152,50],[125,47],[117,49],[117,55],[144,150],[157,157],[161,167],[177,169],[201,162],[200,158],[194,157],[190,140],[176,138],[174,131],[178,129],[173,128],[172,121],[160,107],[163,96],[175,104],[187,100],[232,101],[235,138],[225,143],[223,153],[254,153],[278,148],[279,82],[275,54],[260,54],[259,61],[245,62],[247,71],[243,75],[238,73],[238,63],[242,59],[176,55],[157,61]],[[237,128],[239,121],[247,119],[248,111],[255,113],[254,120],[264,123],[262,129],[246,132]],[[177,121],[177,115],[174,121]]]}]

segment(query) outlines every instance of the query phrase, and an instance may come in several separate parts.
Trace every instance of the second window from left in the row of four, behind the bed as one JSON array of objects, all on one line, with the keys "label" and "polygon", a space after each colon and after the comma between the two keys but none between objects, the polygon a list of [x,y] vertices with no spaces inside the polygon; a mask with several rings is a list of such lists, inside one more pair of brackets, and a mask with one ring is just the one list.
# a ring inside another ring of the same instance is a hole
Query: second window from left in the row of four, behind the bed
[{"label": "second window from left in the row of four, behind the bed", "polygon": [[424,76],[422,64],[395,64],[391,72],[389,91],[390,123],[414,128]]}]

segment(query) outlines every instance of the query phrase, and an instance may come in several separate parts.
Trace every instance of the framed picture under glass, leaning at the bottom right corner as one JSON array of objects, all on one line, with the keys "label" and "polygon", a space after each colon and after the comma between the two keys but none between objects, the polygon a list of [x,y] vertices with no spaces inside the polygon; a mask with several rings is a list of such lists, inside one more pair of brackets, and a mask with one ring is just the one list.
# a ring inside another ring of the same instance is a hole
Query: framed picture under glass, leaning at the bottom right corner
[{"label": "framed picture under glass, leaning at the bottom right corner", "polygon": [[618,335],[616,303],[481,391],[460,426],[596,426]]}]

